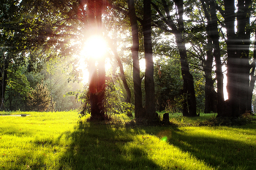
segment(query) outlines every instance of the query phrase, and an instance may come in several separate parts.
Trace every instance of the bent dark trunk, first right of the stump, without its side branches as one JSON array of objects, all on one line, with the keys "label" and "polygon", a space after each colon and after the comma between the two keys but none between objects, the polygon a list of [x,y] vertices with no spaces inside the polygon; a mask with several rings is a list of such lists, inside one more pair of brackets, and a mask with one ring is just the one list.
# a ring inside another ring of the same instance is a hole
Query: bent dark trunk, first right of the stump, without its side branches
[{"label": "bent dark trunk, first right of the stump, without its side branches", "polygon": [[184,80],[183,84],[183,115],[187,117],[197,116],[196,98],[194,88],[194,78],[189,72],[189,64],[187,63],[187,50],[184,41],[184,20],[183,20],[183,1],[175,1],[178,9],[178,31],[176,31],[176,44],[181,60],[181,74]]}]

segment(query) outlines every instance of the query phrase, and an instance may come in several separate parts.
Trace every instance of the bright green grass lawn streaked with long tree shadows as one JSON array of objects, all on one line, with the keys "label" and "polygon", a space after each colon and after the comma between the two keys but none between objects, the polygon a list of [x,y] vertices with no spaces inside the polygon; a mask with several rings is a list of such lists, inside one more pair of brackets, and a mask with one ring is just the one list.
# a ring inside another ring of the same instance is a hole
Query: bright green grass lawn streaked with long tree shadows
[{"label": "bright green grass lawn streaked with long tree shadows", "polygon": [[256,123],[195,126],[214,115],[174,114],[178,126],[127,126],[79,121],[75,111],[6,114],[27,116],[0,116],[0,169],[256,169]]}]

